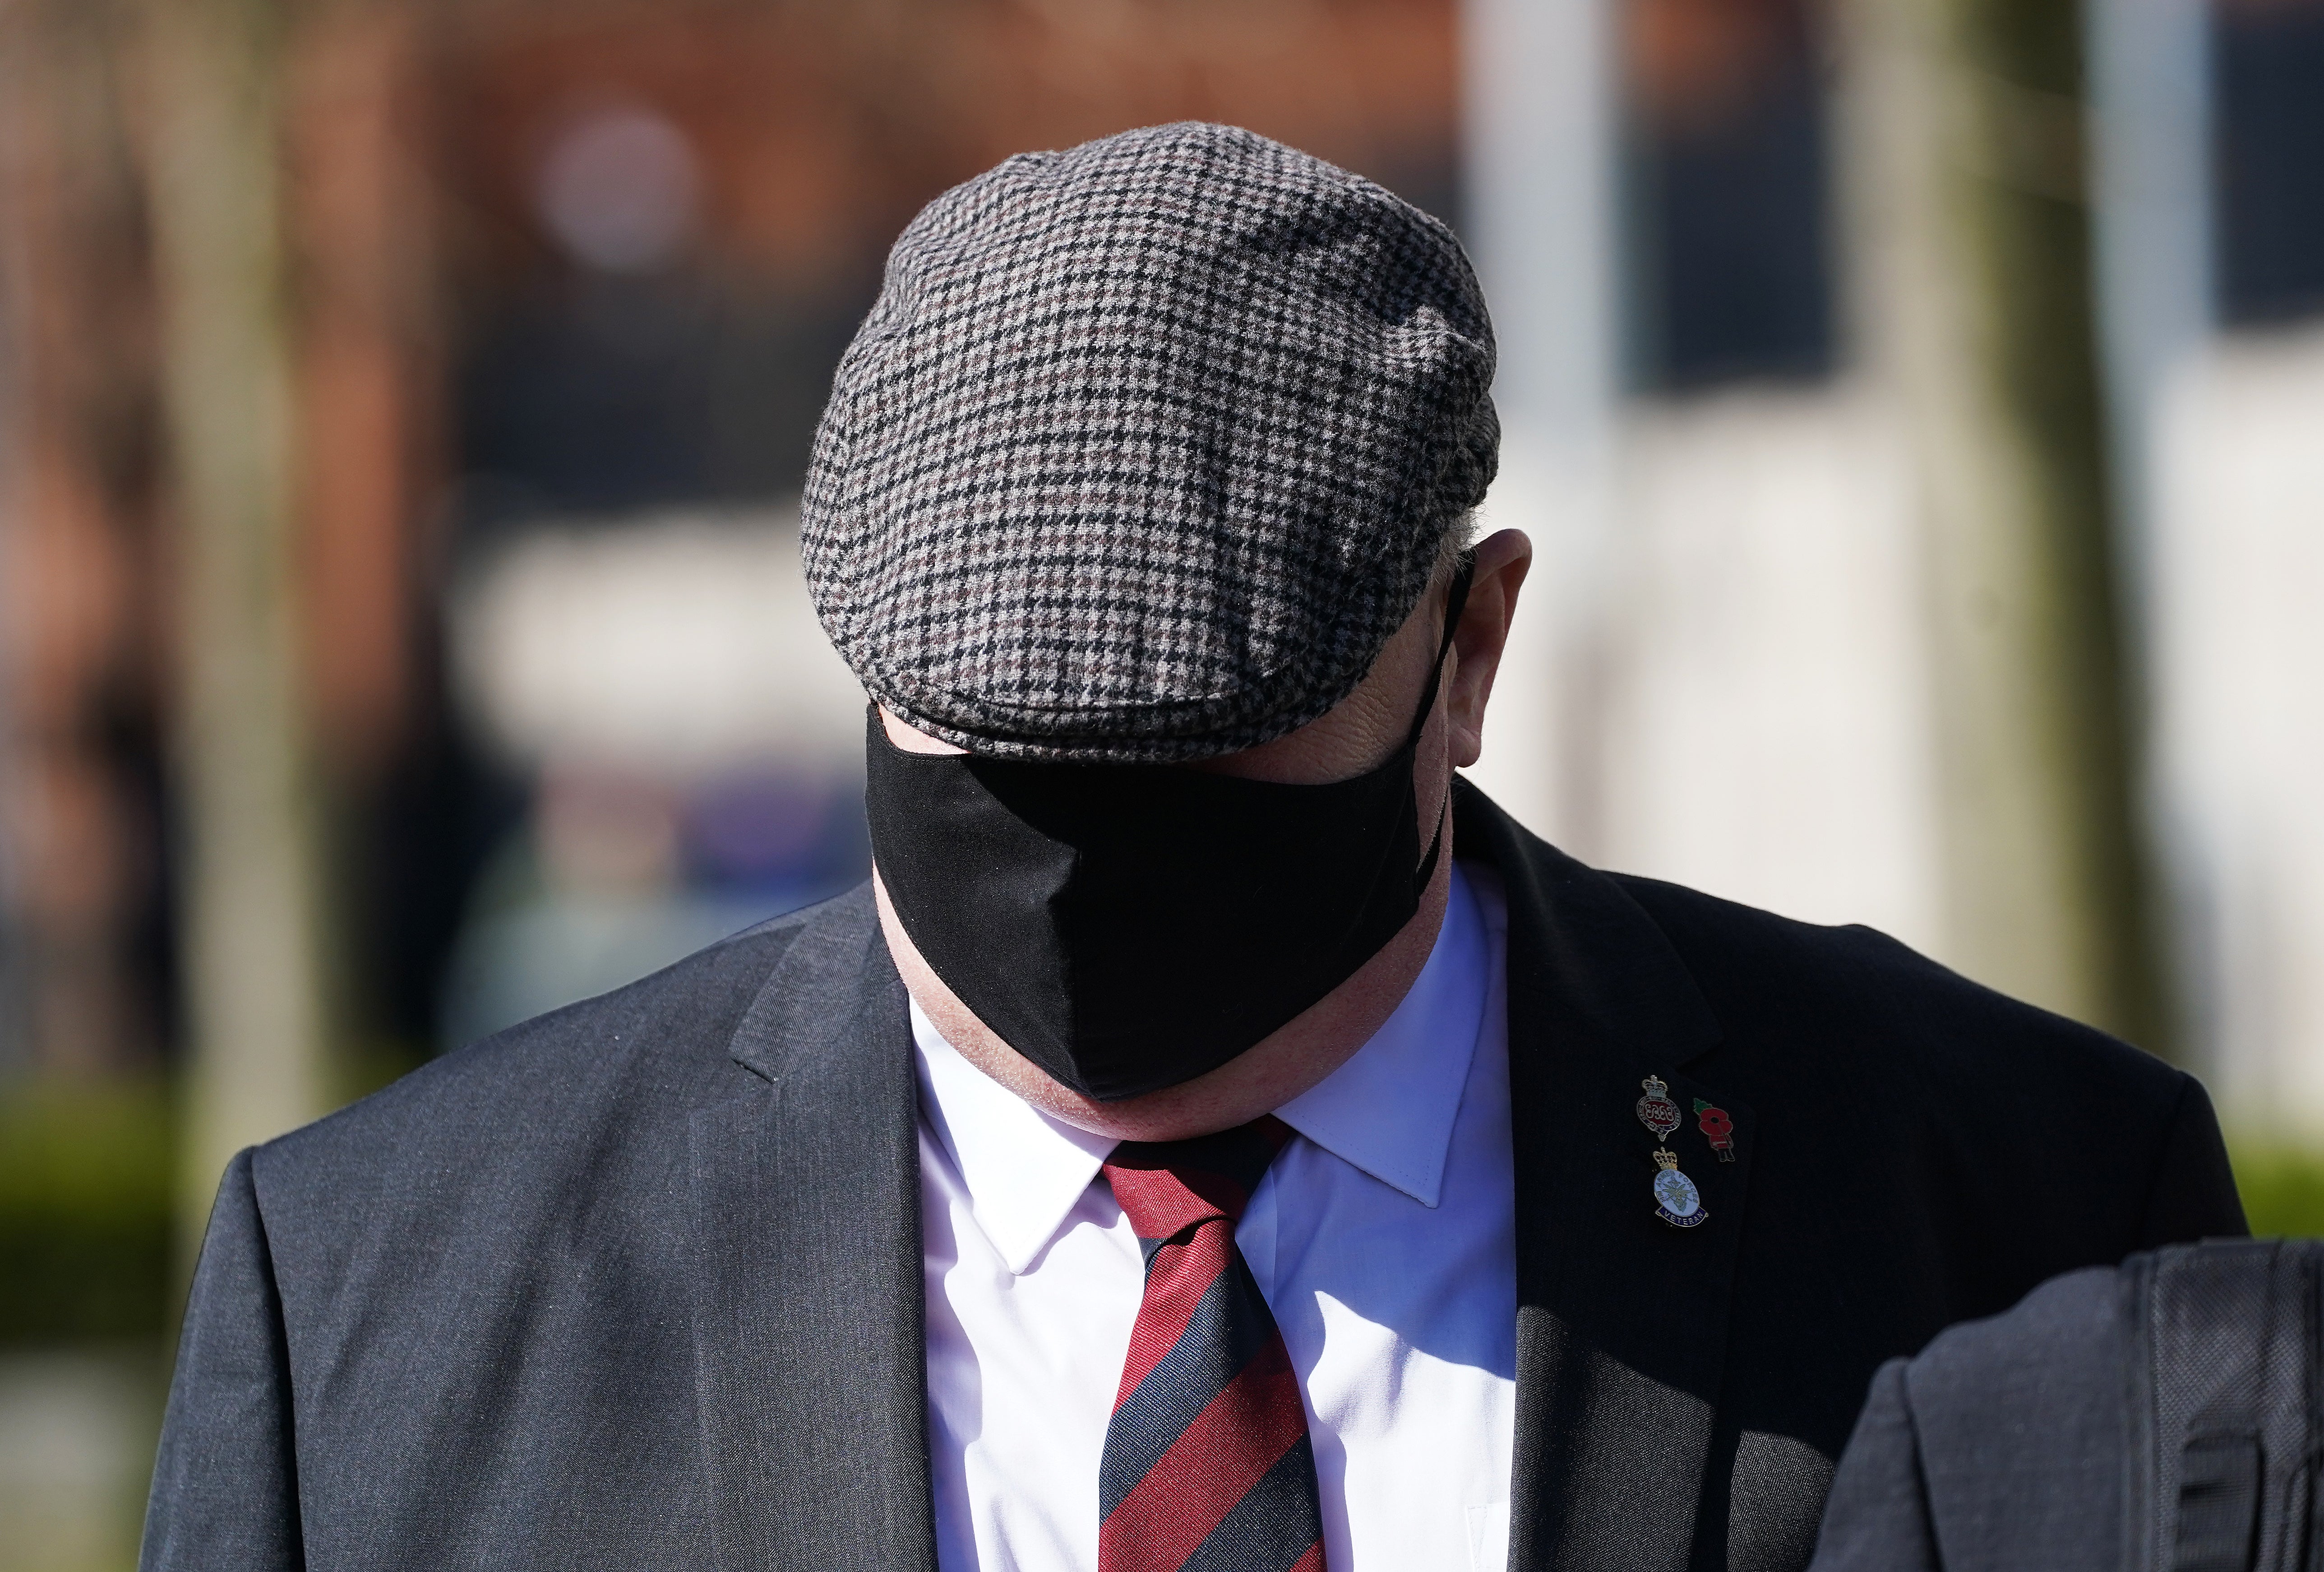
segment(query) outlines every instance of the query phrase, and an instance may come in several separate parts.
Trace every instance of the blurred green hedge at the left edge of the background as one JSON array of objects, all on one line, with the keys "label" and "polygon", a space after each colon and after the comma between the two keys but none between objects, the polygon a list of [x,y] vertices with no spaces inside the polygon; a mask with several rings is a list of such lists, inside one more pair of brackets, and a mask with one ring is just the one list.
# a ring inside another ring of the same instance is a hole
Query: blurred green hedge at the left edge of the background
[{"label": "blurred green hedge at the left edge of the background", "polygon": [[160,1337],[172,1128],[160,1081],[0,1081],[0,1346]]}]

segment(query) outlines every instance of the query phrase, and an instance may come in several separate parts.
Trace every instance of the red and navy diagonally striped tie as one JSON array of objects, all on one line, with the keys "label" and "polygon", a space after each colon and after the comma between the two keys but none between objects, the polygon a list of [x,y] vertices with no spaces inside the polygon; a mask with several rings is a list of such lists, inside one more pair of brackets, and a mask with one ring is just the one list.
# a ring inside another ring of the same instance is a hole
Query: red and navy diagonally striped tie
[{"label": "red and navy diagonally striped tie", "polygon": [[1269,1114],[1106,1158],[1146,1251],[1146,1300],[1097,1474],[1097,1572],[1322,1572],[1299,1374],[1234,1246],[1290,1135]]}]

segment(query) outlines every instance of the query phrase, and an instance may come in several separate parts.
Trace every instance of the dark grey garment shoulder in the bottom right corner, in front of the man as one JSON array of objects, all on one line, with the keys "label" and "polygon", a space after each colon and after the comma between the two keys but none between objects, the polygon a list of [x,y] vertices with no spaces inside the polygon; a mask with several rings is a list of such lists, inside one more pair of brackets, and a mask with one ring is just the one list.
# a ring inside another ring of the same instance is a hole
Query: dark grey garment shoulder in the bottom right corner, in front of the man
[{"label": "dark grey garment shoulder in the bottom right corner, in front of the man", "polygon": [[1813,1572],[2315,1567],[2324,1239],[2068,1272],[1873,1377]]}]

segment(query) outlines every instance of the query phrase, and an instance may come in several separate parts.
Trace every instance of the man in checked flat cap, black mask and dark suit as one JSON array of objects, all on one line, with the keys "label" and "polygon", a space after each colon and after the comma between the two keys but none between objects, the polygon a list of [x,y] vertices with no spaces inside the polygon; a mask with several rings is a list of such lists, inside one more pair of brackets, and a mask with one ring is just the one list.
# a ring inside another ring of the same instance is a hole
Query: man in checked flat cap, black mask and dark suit
[{"label": "man in checked flat cap, black mask and dark suit", "polygon": [[1801,1567],[2203,1091],[1455,779],[1459,246],[1220,126],[906,228],[804,505],[876,879],[244,1153],[151,1567]]}]

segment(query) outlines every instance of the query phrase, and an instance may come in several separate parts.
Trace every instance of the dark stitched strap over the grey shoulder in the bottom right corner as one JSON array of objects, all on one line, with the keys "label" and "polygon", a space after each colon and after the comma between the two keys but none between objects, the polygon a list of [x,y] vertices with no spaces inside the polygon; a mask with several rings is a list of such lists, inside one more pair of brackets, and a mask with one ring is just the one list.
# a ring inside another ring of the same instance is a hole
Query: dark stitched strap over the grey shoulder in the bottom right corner
[{"label": "dark stitched strap over the grey shoulder in the bottom right corner", "polygon": [[2212,1239],[2126,1263],[2133,1567],[2308,1572],[2317,1260]]}]

